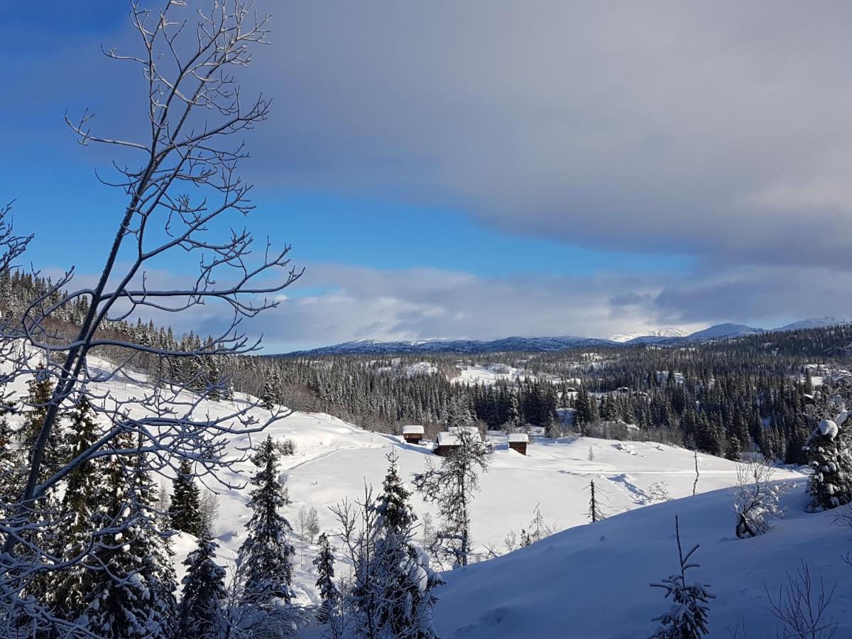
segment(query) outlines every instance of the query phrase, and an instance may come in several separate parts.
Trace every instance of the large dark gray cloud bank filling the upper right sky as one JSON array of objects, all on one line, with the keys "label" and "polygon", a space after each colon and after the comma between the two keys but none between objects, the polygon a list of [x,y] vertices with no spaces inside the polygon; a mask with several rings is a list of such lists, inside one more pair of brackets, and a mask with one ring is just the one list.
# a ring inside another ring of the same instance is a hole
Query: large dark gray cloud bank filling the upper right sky
[{"label": "large dark gray cloud bank filling the upper right sky", "polygon": [[292,3],[251,83],[267,184],[512,233],[852,266],[852,7]]}]

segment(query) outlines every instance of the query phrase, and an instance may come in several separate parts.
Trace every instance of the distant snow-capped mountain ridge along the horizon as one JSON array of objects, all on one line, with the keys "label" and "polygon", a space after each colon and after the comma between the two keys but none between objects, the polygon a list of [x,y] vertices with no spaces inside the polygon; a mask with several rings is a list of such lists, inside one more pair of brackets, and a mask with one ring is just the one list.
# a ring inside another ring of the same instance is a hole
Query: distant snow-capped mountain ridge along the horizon
[{"label": "distant snow-capped mountain ridge along the horizon", "polygon": [[567,348],[596,346],[635,346],[637,344],[661,344],[675,346],[679,343],[708,342],[718,339],[747,337],[757,333],[796,331],[846,325],[849,320],[833,317],[798,320],[772,329],[756,328],[745,324],[726,322],[709,326],[701,331],[688,332],[678,328],[660,328],[650,331],[619,333],[607,338],[577,337],[504,337],[495,340],[455,339],[381,342],[375,339],[360,339],[331,346],[297,351],[291,354],[408,354],[408,353],[500,353],[504,351],[557,351]]}]

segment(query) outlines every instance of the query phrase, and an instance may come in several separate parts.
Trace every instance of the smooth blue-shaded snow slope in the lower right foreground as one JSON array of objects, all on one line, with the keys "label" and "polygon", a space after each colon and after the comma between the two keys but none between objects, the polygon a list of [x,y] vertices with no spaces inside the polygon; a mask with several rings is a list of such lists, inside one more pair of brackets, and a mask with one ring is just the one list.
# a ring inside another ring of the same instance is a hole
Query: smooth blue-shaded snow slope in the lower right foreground
[{"label": "smooth blue-shaded snow slope in the lower right foreground", "polygon": [[[508,556],[445,573],[435,621],[443,637],[649,636],[650,621],[669,609],[663,591],[649,587],[677,571],[674,519],[680,519],[685,551],[699,568],[688,583],[710,584],[710,637],[776,636],[767,591],[778,599],[786,573],[809,564],[819,594],[838,588],[828,614],[838,637],[852,636],[852,531],[833,525],[832,513],[806,514],[803,480],[786,486],[786,516],[762,537],[738,539],[728,491],[710,492],[634,510],[575,527]],[[740,625],[739,634],[729,634]],[[745,631],[744,631],[745,629]],[[780,636],[780,635],[779,635]],[[827,635],[826,635],[827,636]]]}]

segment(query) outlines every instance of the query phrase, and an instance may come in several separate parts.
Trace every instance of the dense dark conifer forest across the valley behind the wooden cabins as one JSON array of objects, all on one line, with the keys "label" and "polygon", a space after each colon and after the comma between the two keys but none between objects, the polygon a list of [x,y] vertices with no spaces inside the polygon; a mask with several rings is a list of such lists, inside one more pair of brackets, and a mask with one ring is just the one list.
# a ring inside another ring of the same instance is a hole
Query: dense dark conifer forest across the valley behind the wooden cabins
[{"label": "dense dark conifer forest across the valley behind the wooden cabins", "polygon": [[[422,423],[434,434],[447,406],[463,400],[488,429],[532,425],[554,436],[661,440],[729,458],[760,451],[804,463],[804,440],[827,410],[805,366],[838,366],[852,333],[831,327],[757,337],[690,348],[430,354],[431,369],[411,355],[252,357],[232,372],[239,390],[384,432]],[[525,372],[491,385],[454,380],[460,366],[495,362]]]}]

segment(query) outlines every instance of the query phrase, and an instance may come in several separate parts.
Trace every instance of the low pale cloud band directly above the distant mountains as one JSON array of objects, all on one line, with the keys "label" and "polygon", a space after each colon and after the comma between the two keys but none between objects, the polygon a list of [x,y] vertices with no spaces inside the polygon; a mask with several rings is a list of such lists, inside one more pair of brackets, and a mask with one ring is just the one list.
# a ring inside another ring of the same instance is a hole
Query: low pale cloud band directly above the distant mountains
[{"label": "low pale cloud band directly above the distant mountains", "polygon": [[[607,335],[711,322],[772,327],[814,315],[849,315],[843,291],[852,274],[826,268],[773,267],[700,276],[597,273],[486,278],[443,271],[380,271],[314,264],[311,285],[252,323],[270,345],[353,339],[497,338],[509,335]],[[802,295],[797,291],[808,291]],[[614,293],[614,294],[613,294]]]}]

